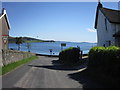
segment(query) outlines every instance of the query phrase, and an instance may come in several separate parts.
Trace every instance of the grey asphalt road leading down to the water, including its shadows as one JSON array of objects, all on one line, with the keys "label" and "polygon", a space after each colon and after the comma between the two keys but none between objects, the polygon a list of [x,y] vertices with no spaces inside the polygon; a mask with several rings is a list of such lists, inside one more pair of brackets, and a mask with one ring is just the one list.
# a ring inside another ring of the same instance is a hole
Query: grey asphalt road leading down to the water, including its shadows
[{"label": "grey asphalt road leading down to the water, including its shadows", "polygon": [[39,59],[20,66],[2,77],[2,88],[102,88],[84,73],[85,65],[68,68],[56,57]]}]

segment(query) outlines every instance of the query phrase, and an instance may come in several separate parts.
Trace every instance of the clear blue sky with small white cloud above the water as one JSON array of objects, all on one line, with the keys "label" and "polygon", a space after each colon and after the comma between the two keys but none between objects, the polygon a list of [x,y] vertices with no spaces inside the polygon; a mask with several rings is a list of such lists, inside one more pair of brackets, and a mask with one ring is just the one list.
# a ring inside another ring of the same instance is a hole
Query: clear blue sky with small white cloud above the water
[{"label": "clear blue sky with small white cloud above the water", "polygon": [[[118,9],[117,2],[103,2]],[[97,42],[94,29],[97,2],[3,2],[10,36],[43,40]]]}]

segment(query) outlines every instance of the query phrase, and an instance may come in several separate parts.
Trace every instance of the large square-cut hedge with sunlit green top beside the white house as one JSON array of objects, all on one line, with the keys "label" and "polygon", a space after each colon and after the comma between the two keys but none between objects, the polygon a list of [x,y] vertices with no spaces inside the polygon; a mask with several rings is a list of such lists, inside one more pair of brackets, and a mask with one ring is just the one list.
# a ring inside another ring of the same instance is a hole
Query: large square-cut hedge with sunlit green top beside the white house
[{"label": "large square-cut hedge with sunlit green top beside the white house", "polygon": [[115,46],[91,48],[88,69],[104,75],[119,77],[120,48]]}]

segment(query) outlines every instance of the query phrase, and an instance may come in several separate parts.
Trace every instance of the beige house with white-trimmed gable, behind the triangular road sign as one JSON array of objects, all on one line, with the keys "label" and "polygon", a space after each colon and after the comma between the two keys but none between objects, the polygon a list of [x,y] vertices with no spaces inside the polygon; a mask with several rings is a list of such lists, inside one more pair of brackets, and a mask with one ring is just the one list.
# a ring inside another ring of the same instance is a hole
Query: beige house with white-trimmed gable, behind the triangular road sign
[{"label": "beige house with white-trimmed gable, behind the triangular road sign", "polygon": [[3,8],[0,13],[0,66],[2,64],[2,50],[8,48],[10,24],[8,21],[6,10]]}]

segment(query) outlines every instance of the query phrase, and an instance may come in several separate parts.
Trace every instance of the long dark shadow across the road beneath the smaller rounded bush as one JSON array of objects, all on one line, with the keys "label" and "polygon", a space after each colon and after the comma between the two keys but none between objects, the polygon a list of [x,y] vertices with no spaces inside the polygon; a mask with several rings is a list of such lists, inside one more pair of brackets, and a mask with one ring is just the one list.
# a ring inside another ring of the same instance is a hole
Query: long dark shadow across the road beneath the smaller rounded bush
[{"label": "long dark shadow across the road beneath the smaller rounded bush", "polygon": [[37,67],[37,68],[46,68],[46,69],[52,69],[52,70],[74,71],[74,70],[86,68],[87,67],[86,60],[87,59],[82,60],[76,63],[76,65],[74,66],[62,65],[59,60],[52,60],[51,61],[52,65],[41,65],[41,66],[40,65],[28,65],[28,66]]}]

